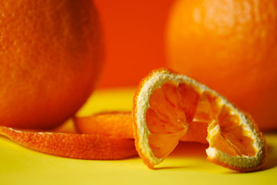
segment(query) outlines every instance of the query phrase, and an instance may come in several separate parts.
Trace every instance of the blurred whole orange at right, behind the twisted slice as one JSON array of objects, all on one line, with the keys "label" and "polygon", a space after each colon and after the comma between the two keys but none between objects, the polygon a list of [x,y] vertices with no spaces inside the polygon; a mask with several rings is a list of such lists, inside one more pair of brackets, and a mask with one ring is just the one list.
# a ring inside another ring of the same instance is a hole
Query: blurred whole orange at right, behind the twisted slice
[{"label": "blurred whole orange at right, behind the twisted slice", "polygon": [[168,65],[277,128],[277,1],[180,0],[168,24]]}]

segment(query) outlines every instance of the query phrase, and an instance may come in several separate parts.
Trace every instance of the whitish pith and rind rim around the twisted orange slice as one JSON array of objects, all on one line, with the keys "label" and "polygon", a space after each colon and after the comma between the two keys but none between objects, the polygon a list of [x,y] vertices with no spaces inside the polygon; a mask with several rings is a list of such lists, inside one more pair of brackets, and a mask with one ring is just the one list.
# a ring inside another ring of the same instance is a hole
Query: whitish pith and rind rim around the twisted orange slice
[{"label": "whitish pith and rind rim around the twisted orange slice", "polygon": [[209,147],[206,149],[206,153],[208,158],[213,159],[217,158],[218,161],[229,164],[229,166],[233,166],[234,168],[257,168],[261,162],[265,159],[265,154],[263,153],[265,148],[265,143],[260,138],[260,134],[258,130],[254,128],[253,124],[251,124],[251,120],[247,119],[247,116],[244,115],[238,108],[235,108],[233,104],[229,103],[224,97],[216,93],[214,90],[211,90],[207,86],[200,84],[199,82],[195,81],[195,79],[190,79],[185,75],[174,74],[169,72],[168,70],[160,70],[153,72],[152,75],[145,79],[145,84],[143,84],[141,90],[137,93],[136,97],[136,108],[134,109],[136,113],[136,126],[137,130],[137,147],[141,150],[144,157],[148,159],[149,164],[154,166],[155,164],[159,164],[163,159],[157,158],[154,156],[152,149],[150,148],[150,144],[148,142],[148,135],[150,134],[148,130],[148,126],[146,124],[145,114],[148,108],[150,107],[149,101],[152,92],[156,89],[161,87],[161,85],[165,84],[168,81],[185,84],[193,84],[193,86],[197,86],[200,89],[199,93],[203,91],[209,91],[215,94],[217,97],[220,97],[220,105],[225,104],[227,107],[231,108],[231,114],[238,115],[240,117],[240,124],[242,124],[242,128],[244,128],[245,135],[251,137],[254,141],[254,148],[256,148],[256,155],[253,157],[242,156],[242,157],[233,157],[226,153],[223,153],[216,148]]}]

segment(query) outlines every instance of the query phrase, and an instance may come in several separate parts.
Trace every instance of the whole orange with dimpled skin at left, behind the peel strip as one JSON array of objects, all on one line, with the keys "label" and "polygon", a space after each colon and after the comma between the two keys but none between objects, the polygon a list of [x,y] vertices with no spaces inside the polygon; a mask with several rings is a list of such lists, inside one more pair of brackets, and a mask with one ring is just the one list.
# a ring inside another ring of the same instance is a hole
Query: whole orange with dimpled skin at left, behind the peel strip
[{"label": "whole orange with dimpled skin at left, behind the peel strip", "polygon": [[52,128],[87,100],[102,63],[91,0],[0,0],[0,124]]}]

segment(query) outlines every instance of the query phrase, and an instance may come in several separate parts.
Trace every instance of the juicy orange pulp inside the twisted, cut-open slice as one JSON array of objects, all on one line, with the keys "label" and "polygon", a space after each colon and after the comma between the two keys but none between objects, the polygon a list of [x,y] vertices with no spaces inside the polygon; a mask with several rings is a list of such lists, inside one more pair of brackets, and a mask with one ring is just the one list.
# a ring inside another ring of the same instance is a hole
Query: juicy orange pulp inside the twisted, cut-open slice
[{"label": "juicy orange pulp inside the twisted, cut-open slice", "polygon": [[212,92],[200,92],[196,86],[173,83],[153,91],[145,117],[154,155],[160,158],[171,153],[181,138],[188,137],[190,128],[199,128],[199,135],[206,137],[208,125],[209,129],[220,128],[212,132],[210,146],[232,156],[255,155],[253,140],[244,133],[240,118],[220,105],[220,98]]}]

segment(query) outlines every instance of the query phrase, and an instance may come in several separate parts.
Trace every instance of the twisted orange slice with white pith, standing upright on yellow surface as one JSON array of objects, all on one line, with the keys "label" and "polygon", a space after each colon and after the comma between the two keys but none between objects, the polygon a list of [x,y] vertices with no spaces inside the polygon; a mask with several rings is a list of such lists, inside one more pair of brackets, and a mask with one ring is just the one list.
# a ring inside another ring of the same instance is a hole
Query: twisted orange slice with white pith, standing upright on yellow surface
[{"label": "twisted orange slice with white pith, standing upright on yellow surface", "polygon": [[151,72],[136,90],[132,116],[136,150],[150,168],[172,152],[192,125],[207,129],[211,162],[235,171],[265,164],[265,139],[253,119],[185,75],[164,68]]}]

